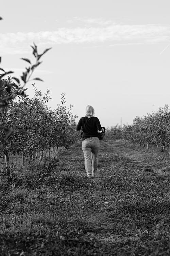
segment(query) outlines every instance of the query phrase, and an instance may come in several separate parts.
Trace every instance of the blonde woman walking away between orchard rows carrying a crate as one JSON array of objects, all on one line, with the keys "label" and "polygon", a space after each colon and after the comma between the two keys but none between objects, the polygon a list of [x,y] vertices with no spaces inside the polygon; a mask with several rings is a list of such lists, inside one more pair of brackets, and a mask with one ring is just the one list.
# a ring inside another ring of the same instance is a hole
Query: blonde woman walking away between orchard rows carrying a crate
[{"label": "blonde woman walking away between orchard rows carrying a crate", "polygon": [[83,128],[82,150],[87,177],[95,175],[98,166],[99,137],[98,130],[102,131],[99,119],[95,117],[92,106],[86,106],[85,117],[81,117],[77,125],[77,131]]}]

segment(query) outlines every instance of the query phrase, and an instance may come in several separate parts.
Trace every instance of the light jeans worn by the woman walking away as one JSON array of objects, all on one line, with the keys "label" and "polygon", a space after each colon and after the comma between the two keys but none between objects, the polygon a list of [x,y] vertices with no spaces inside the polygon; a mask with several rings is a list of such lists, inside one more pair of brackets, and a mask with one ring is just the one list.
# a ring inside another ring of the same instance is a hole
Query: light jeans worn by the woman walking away
[{"label": "light jeans worn by the woman walking away", "polygon": [[87,175],[94,175],[97,171],[99,147],[98,137],[87,138],[82,141],[84,165]]}]

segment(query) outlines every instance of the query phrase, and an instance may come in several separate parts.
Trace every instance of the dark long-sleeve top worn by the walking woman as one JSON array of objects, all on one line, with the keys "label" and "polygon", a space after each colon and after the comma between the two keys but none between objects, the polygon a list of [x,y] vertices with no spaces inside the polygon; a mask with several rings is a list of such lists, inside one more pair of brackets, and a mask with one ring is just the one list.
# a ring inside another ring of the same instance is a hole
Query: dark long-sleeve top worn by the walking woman
[{"label": "dark long-sleeve top worn by the walking woman", "polygon": [[94,116],[81,117],[76,128],[77,131],[79,131],[81,127],[83,128],[82,140],[85,140],[91,137],[99,137],[98,130],[101,131],[102,129],[99,119]]}]

